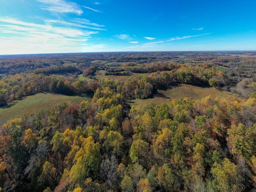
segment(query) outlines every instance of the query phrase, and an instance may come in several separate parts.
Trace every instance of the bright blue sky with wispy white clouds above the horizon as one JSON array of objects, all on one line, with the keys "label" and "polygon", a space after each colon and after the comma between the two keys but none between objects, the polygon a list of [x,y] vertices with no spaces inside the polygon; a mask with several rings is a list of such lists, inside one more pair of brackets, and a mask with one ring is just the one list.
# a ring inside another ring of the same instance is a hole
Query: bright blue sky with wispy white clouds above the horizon
[{"label": "bright blue sky with wispy white clouds above the horizon", "polygon": [[256,50],[255,0],[1,0],[0,54]]}]

